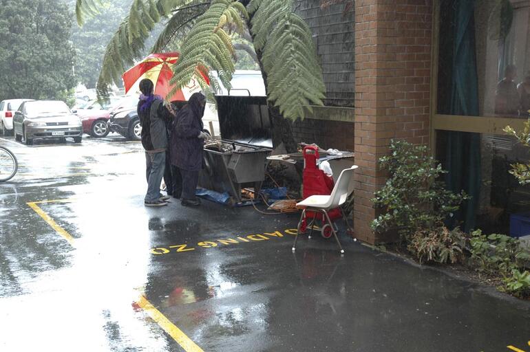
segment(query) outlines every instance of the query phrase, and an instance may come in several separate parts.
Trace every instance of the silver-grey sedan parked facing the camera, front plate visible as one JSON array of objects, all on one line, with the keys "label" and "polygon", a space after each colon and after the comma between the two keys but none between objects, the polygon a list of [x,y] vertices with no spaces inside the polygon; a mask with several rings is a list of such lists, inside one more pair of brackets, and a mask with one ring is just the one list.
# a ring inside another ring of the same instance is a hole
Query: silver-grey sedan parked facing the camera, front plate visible
[{"label": "silver-grey sedan parked facing the camera, front plate visible", "polygon": [[83,126],[65,102],[59,100],[32,100],[23,102],[13,117],[14,139],[33,144],[34,139],[73,137],[81,143]]}]

